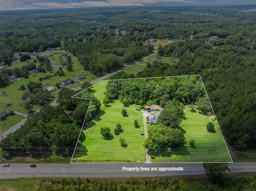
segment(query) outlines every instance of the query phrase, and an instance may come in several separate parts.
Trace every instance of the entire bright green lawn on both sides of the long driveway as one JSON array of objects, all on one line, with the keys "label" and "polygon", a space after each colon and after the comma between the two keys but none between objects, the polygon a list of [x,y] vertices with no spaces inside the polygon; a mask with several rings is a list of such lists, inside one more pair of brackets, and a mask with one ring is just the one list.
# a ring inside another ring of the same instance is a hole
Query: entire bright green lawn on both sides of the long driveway
[{"label": "entire bright green lawn on both sides of the long driveway", "polygon": [[[93,86],[94,96],[101,103],[105,97],[107,83],[107,80],[101,81]],[[83,94],[78,96],[83,97]],[[143,118],[141,111],[135,110],[138,107],[137,105],[124,107],[118,100],[111,103],[109,107],[102,104],[100,115],[83,128],[86,139],[82,146],[78,146],[73,162],[145,162],[144,137],[140,136],[143,132]],[[122,117],[123,108],[126,108],[129,117]],[[206,117],[198,111],[191,112],[189,106],[185,106],[185,116],[181,127],[186,131],[187,144],[168,152],[166,150],[151,151],[151,162],[231,162],[226,144],[214,118]],[[133,127],[135,119],[140,123],[139,129]],[[211,121],[215,123],[216,132],[214,133],[206,130],[206,124]],[[123,134],[119,136],[114,135],[116,123],[120,123],[124,129]],[[148,123],[147,126],[150,131],[151,124]],[[109,127],[114,138],[104,140],[100,135],[101,127]],[[120,146],[119,138],[126,140],[127,148]],[[190,147],[190,140],[195,140],[195,147]]]}]

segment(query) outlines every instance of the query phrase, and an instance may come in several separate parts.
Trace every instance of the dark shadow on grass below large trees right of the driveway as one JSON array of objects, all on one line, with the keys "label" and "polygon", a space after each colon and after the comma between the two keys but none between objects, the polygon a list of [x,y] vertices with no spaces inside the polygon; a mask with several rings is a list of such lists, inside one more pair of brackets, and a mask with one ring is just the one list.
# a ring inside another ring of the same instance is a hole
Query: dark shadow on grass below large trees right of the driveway
[{"label": "dark shadow on grass below large trees right of the driveway", "polygon": [[173,148],[171,151],[167,151],[166,149],[153,151],[150,150],[150,156],[152,159],[155,157],[171,157],[172,155],[180,155],[180,156],[186,156],[190,155],[191,153],[188,151],[187,146],[182,146],[180,148]]}]

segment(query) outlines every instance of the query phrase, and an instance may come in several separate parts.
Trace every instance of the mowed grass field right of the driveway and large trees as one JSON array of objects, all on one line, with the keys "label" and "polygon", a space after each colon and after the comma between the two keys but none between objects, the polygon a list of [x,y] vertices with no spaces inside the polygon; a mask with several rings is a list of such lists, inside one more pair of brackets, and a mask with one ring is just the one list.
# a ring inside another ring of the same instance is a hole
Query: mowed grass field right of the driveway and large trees
[{"label": "mowed grass field right of the driveway and large trees", "polygon": [[[205,117],[199,112],[191,112],[185,107],[186,119],[181,127],[186,131],[187,144],[171,152],[151,151],[152,162],[231,162],[227,147],[222,138],[219,127],[215,124],[215,131],[207,132],[206,124],[212,122],[213,117]],[[150,128],[150,124],[148,124]],[[190,140],[195,140],[195,147],[191,148]]]}]

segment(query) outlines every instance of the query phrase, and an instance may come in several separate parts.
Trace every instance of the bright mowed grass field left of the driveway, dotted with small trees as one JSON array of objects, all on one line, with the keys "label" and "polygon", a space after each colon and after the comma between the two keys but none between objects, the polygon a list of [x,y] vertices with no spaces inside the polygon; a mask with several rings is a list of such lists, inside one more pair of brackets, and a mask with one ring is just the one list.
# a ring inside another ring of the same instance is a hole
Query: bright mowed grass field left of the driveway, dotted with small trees
[{"label": "bright mowed grass field left of the driveway, dotted with small trees", "polygon": [[[105,97],[108,81],[101,81],[94,85],[94,95],[101,101]],[[82,95],[82,93],[81,93]],[[79,95],[77,95],[79,97]],[[123,117],[121,111],[127,110],[128,117]],[[124,107],[119,101],[110,103],[109,106],[101,106],[101,113],[91,123],[86,124],[83,132],[86,136],[82,146],[78,146],[72,162],[145,162],[143,117],[141,111],[136,111],[136,105]],[[140,128],[133,126],[137,119]],[[120,123],[123,129],[121,135],[116,136],[114,129]],[[105,140],[100,134],[101,127],[109,127],[113,139]],[[127,147],[121,147],[119,139],[124,138]]]}]

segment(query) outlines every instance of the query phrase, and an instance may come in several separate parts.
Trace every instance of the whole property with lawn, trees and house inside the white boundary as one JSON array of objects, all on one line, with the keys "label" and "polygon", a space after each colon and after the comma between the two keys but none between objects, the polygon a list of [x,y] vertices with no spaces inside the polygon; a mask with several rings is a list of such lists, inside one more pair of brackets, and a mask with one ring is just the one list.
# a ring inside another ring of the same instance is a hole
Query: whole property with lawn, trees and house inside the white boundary
[{"label": "whole property with lawn, trees and house inside the white boundary", "polygon": [[73,97],[92,98],[90,116],[101,106],[71,163],[231,162],[199,76],[105,80]]}]

